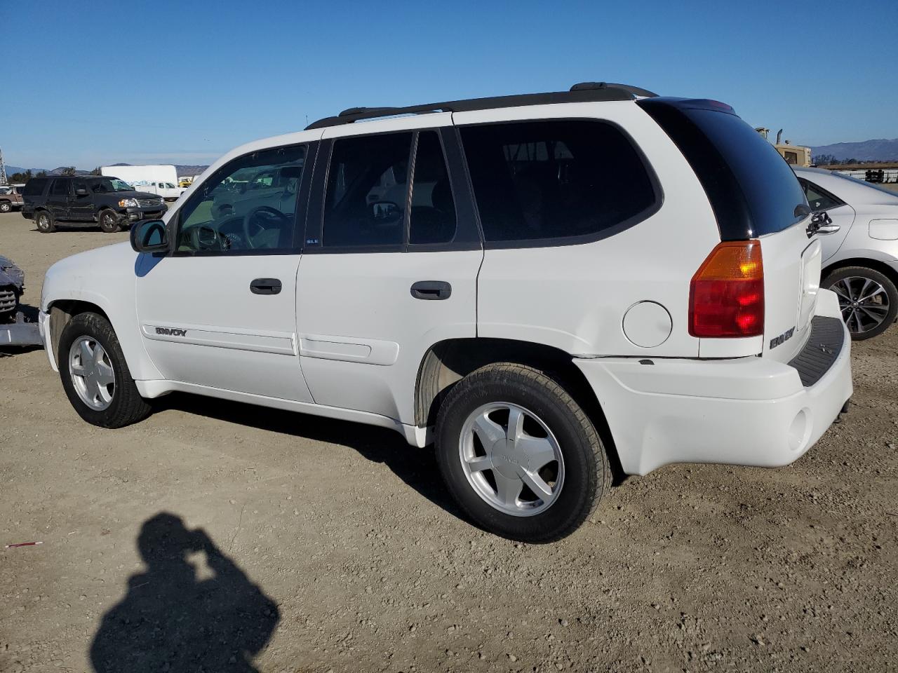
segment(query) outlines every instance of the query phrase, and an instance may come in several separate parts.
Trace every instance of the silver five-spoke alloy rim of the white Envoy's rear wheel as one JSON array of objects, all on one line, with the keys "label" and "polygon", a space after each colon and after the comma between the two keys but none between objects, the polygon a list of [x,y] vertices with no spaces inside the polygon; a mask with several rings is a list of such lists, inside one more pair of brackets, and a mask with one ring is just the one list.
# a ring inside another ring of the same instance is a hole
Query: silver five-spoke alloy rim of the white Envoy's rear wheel
[{"label": "silver five-spoke alloy rim of the white Envoy's rear wheel", "polygon": [[546,511],[564,485],[555,435],[538,415],[509,402],[480,406],[468,416],[459,458],[474,492],[513,516]]}]

